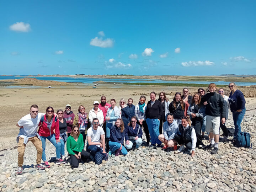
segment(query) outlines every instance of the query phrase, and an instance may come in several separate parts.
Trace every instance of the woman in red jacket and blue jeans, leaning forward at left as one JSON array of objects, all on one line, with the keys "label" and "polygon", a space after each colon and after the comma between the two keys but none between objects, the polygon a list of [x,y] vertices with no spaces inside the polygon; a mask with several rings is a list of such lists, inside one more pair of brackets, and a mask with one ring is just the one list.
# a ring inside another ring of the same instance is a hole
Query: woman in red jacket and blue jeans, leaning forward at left
[{"label": "woman in red jacket and blue jeans, leaning forward at left", "polygon": [[57,121],[57,118],[54,117],[54,110],[52,107],[47,107],[46,114],[41,119],[41,125],[38,129],[38,134],[41,137],[42,140],[42,147],[43,147],[43,154],[42,154],[42,160],[44,161],[43,165],[46,168],[49,168],[50,165],[48,164],[46,160],[46,139],[48,139],[56,148],[56,156],[57,156],[57,162],[56,164],[62,164],[66,161],[63,161],[60,159],[60,150],[61,150],[61,143],[59,139],[59,122]]}]

